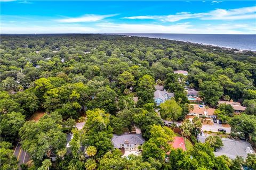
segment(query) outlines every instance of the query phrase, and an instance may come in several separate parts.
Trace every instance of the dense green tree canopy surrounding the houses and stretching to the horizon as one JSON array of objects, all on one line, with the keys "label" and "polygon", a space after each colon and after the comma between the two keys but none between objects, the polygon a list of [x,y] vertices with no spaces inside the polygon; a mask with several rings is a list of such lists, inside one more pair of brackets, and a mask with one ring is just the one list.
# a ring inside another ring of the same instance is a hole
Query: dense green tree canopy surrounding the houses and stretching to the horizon
[{"label": "dense green tree canopy surrounding the houses and stretching to the horizon", "polygon": [[[173,132],[162,118],[183,120],[192,109],[185,86],[199,90],[206,105],[241,101],[245,114],[230,105],[216,114],[231,125],[232,135],[256,142],[256,54],[181,41],[118,35],[1,35],[1,167],[17,169],[10,141],[21,139],[31,169],[237,169],[245,162],[214,157],[209,142],[188,151],[171,149]],[[174,74],[185,70],[188,75]],[[155,85],[174,98],[154,103]],[[33,121],[37,111],[46,113]],[[82,116],[82,117],[81,117]],[[233,117],[234,116],[234,117]],[[85,121],[76,130],[76,121]],[[113,133],[141,129],[142,156],[121,157]],[[183,121],[183,137],[194,137],[202,123]],[[73,133],[66,149],[66,133]],[[5,140],[5,141],[4,141]],[[219,143],[218,143],[219,144]],[[84,157],[80,146],[87,149]],[[220,145],[218,145],[220,146]],[[165,162],[166,153],[169,162]],[[57,156],[51,162],[51,155]]]}]

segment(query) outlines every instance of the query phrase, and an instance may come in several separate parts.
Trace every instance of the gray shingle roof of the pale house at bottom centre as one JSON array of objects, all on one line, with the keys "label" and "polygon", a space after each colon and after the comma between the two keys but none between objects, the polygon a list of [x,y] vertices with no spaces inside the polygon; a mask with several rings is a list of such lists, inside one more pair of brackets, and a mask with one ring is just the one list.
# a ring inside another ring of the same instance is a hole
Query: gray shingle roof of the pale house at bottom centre
[{"label": "gray shingle roof of the pale house at bottom centre", "polygon": [[120,148],[120,145],[125,144],[125,141],[129,141],[129,144],[143,144],[145,139],[142,138],[141,134],[114,134],[111,141],[115,148]]}]

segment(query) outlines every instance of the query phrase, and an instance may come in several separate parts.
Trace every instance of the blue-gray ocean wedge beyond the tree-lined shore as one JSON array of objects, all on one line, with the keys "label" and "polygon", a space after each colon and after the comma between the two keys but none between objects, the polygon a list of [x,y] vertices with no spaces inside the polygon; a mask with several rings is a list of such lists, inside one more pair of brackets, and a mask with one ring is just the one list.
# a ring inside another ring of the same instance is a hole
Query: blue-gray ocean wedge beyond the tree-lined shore
[{"label": "blue-gray ocean wedge beyond the tree-lined shore", "polygon": [[183,33],[122,33],[122,35],[162,38],[219,47],[256,51],[256,35],[183,34]]}]

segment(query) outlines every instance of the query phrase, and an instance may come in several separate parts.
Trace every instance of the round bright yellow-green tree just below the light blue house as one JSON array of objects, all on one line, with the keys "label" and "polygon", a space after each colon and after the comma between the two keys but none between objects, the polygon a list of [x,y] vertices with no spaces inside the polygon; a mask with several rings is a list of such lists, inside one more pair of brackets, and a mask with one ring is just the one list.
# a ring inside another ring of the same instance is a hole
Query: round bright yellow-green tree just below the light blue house
[{"label": "round bright yellow-green tree just below the light blue house", "polygon": [[172,123],[177,121],[182,113],[182,108],[173,99],[160,104],[160,108],[161,117],[167,121],[172,120]]}]

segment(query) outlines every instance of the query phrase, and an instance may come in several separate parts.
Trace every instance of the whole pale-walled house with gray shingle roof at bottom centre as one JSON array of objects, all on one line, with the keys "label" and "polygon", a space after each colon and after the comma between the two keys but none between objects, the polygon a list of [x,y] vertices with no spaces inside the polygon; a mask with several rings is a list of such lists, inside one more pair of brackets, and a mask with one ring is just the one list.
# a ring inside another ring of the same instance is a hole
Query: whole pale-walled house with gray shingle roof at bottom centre
[{"label": "whole pale-walled house with gray shingle roof at bottom centre", "polygon": [[[117,135],[114,134],[113,138],[111,139],[114,148],[118,148],[122,150],[125,155],[129,155],[129,153],[133,154],[134,151],[138,151],[138,147],[142,146],[145,142],[145,139],[142,138],[142,134],[123,134]],[[133,152],[132,152],[133,151]]]}]

